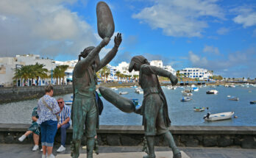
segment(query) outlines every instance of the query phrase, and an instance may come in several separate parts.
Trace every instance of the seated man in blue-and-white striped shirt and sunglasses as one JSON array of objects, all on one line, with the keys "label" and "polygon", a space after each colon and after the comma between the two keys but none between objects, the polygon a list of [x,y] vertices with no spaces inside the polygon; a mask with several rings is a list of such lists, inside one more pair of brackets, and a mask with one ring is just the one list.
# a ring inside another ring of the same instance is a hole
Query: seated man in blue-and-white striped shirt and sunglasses
[{"label": "seated man in blue-and-white striped shirt and sunglasses", "polygon": [[58,98],[57,102],[60,107],[60,113],[59,113],[59,123],[57,125],[57,129],[60,129],[60,148],[57,149],[57,152],[65,151],[65,138],[67,135],[67,129],[70,126],[70,109],[68,106],[65,105],[63,98]]}]

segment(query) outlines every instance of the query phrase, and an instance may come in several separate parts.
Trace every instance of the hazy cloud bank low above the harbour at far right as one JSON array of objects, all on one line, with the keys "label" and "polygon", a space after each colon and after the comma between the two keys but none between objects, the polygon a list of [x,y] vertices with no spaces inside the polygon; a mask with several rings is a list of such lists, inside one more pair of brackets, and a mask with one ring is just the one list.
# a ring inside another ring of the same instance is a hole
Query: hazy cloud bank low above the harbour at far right
[{"label": "hazy cloud bank low above the harbour at far right", "polygon": [[188,52],[188,60],[192,67],[206,68],[227,77],[256,76],[256,49],[247,49],[228,54],[226,58],[219,57],[215,60],[208,60],[200,57],[192,51]]}]

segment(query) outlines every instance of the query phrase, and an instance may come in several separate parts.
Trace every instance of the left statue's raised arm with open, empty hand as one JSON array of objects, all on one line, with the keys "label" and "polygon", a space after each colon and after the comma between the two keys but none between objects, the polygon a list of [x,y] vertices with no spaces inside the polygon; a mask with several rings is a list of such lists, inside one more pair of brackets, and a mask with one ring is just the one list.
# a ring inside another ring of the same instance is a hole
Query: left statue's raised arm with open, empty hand
[{"label": "left statue's raised arm with open, empty hand", "polygon": [[118,51],[118,47],[121,44],[122,41],[122,37],[121,37],[121,33],[118,33],[115,36],[115,46],[113,47],[113,49],[111,49],[107,55],[99,62],[99,65],[96,68],[96,71],[99,71],[101,68],[103,68],[105,65],[107,65],[111,60],[113,60],[113,58],[115,57],[116,52]]}]

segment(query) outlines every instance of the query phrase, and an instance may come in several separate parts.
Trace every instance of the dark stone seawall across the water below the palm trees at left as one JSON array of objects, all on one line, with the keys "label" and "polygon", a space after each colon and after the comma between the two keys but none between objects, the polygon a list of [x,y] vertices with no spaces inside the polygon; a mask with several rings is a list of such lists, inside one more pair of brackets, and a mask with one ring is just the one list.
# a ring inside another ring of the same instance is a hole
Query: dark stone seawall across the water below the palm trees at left
[{"label": "dark stone seawall across the water below the palm trees at left", "polygon": [[[40,98],[45,94],[46,86],[0,87],[0,104]],[[72,85],[54,85],[54,96],[72,93]]]}]

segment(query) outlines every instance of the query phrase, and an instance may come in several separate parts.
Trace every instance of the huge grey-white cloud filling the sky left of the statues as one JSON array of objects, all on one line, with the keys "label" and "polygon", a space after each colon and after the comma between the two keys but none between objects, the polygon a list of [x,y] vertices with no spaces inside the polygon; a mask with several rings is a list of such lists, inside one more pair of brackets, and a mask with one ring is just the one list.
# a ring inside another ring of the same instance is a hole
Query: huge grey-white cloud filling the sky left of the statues
[{"label": "huge grey-white cloud filling the sky left of the statues", "polygon": [[95,46],[96,37],[91,26],[77,12],[65,7],[65,4],[75,2],[77,1],[1,0],[0,56],[77,56],[85,47]]}]

